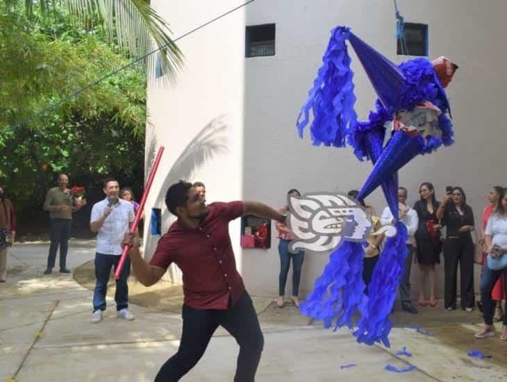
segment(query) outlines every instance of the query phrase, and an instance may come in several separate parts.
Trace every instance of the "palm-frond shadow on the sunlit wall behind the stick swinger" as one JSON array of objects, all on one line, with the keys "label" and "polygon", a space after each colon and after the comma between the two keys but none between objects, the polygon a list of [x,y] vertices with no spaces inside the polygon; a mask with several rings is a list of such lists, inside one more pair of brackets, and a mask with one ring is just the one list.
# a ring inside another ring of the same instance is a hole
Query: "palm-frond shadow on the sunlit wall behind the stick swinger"
[{"label": "palm-frond shadow on the sunlit wall behind the stick swinger", "polygon": [[[169,173],[165,176],[163,185],[158,191],[155,203],[153,204],[153,207],[162,210],[162,232],[167,231],[170,224],[176,219],[165,207],[165,192],[167,188],[180,179],[192,179],[197,170],[215,156],[228,154],[227,135],[230,128],[231,126],[226,122],[226,117],[224,115],[212,119],[199,133],[197,133],[174,162]],[[145,167],[146,174],[148,174],[149,169],[151,169],[155,153],[156,138],[153,134],[148,143],[146,156],[147,166]],[[146,216],[151,219],[151,213],[147,213]],[[147,225],[150,226],[150,223],[151,222],[147,222]],[[155,251],[157,241],[155,237],[148,234],[144,253],[150,254],[151,256]],[[181,283],[181,272],[175,265],[171,265],[169,269],[167,269],[164,279],[172,283]]]}]

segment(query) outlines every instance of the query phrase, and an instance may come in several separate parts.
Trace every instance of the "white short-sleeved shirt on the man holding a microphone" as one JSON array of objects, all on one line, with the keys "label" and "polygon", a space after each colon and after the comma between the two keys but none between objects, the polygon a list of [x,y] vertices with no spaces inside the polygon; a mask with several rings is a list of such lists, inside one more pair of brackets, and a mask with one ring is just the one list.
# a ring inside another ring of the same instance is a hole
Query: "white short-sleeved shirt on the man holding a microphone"
[{"label": "white short-sleeved shirt on the man holding a microphone", "polygon": [[[98,222],[103,217],[107,206],[107,198],[94,204],[90,223]],[[97,252],[106,255],[121,255],[122,240],[133,221],[133,205],[129,201],[119,199],[97,233]]]}]

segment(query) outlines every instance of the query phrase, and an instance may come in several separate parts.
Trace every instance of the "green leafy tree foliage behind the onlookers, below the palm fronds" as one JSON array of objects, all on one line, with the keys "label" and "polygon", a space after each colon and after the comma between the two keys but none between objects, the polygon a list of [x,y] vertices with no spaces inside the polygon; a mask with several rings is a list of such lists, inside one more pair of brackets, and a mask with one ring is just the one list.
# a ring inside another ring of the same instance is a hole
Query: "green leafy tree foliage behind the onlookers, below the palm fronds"
[{"label": "green leafy tree foliage behind the onlookers, below the palm fronds", "polygon": [[146,77],[131,66],[26,124],[65,94],[128,63],[99,28],[0,10],[0,184],[18,209],[37,206],[58,172],[100,189],[114,175],[142,187]]}]

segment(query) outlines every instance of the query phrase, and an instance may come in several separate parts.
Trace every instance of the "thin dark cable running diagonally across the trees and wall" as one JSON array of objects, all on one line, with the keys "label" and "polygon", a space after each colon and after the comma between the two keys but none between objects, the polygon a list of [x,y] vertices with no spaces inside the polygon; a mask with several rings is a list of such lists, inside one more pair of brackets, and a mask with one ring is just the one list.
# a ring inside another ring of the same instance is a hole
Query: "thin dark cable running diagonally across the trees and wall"
[{"label": "thin dark cable running diagonally across the trees and wall", "polygon": [[[217,17],[215,17],[214,19],[210,19],[210,21],[208,22],[205,22],[204,24],[201,24],[199,26],[197,26],[197,28],[194,28],[192,29],[192,31],[188,31],[187,33],[179,36],[178,38],[176,38],[175,40],[173,40],[173,42],[176,42],[178,40],[181,40],[182,38],[185,38],[187,37],[188,35],[194,33],[194,32],[197,32],[199,31],[199,29],[201,28],[204,28],[205,26],[208,26],[209,24],[213,23],[213,22],[216,22],[218,19],[222,19],[222,17],[225,17],[226,15],[229,15],[230,13],[233,13],[235,12],[236,10],[240,9],[240,8],[243,8],[244,6],[247,6],[249,3],[253,2],[254,0],[249,0],[247,1],[246,3],[243,3],[242,5],[240,6],[237,6],[236,8],[233,8],[231,10],[228,10],[226,13],[222,13],[222,15],[219,15]],[[60,101],[58,101],[57,103],[53,103],[53,105],[49,105],[47,108],[44,108],[42,110],[40,110],[38,113],[35,113],[34,115],[32,115],[31,117],[26,117],[25,119],[23,119],[21,122],[18,122],[17,124],[15,125],[11,125],[10,127],[7,128],[8,129],[13,129],[13,128],[17,128],[19,125],[22,125],[22,124],[26,124],[28,122],[31,122],[33,121],[33,119],[39,117],[40,115],[44,114],[44,113],[47,113],[48,111],[50,110],[54,110],[56,109],[58,106],[60,106],[62,103],[65,103],[67,102],[69,99],[71,98],[74,98],[76,96],[78,96],[79,94],[81,94],[82,92],[84,92],[85,90],[88,90],[90,88],[93,88],[95,85],[97,85],[98,83],[101,83],[102,81],[104,81],[105,79],[111,77],[111,76],[114,76],[115,74],[121,72],[122,70],[126,69],[127,67],[131,67],[132,65],[134,65],[135,63],[138,63],[139,61],[141,60],[144,60],[144,58],[147,58],[148,56],[151,56],[153,53],[156,53],[158,51],[160,51],[160,49],[164,49],[165,47],[169,46],[169,44],[165,44],[163,45],[162,47],[159,47],[147,54],[145,54],[144,56],[142,57],[139,57],[139,58],[136,58],[135,60],[131,61],[130,63],[128,63],[127,65],[124,65],[122,67],[120,67],[119,69],[116,69],[114,72],[110,72],[109,74],[106,74],[106,76],[103,76],[101,78],[99,78],[98,80],[90,83],[90,85],[86,85],[84,88],[81,88],[79,90],[76,90],[75,92],[72,92],[71,94],[69,94],[67,97],[65,97],[64,99],[61,99]]]}]

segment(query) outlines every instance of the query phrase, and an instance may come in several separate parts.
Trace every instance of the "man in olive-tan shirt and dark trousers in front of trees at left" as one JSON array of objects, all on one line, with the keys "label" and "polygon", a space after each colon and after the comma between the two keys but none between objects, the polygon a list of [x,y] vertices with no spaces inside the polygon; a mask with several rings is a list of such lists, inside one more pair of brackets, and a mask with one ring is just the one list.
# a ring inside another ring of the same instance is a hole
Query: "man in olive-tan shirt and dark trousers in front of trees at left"
[{"label": "man in olive-tan shirt and dark trousers in front of trees at left", "polygon": [[69,177],[66,174],[58,176],[58,187],[51,188],[44,201],[44,210],[49,211],[49,226],[51,244],[47,257],[47,269],[44,274],[53,272],[56,261],[56,252],[60,245],[60,273],[70,273],[65,264],[67,250],[69,249],[70,229],[72,226],[72,213],[86,204],[85,199],[78,206],[73,206],[72,195],[67,185]]}]

